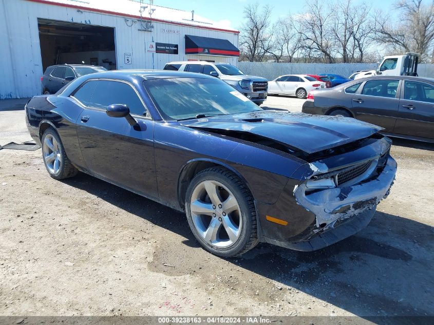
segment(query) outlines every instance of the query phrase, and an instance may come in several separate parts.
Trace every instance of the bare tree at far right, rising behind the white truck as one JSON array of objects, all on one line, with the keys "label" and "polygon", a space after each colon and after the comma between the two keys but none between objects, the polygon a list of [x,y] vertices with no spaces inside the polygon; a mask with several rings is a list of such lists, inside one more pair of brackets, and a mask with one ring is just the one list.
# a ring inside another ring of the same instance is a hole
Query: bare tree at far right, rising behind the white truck
[{"label": "bare tree at far right, rising behind the white truck", "polygon": [[382,11],[375,15],[376,40],[401,52],[418,52],[426,60],[434,41],[434,1],[425,5],[422,0],[402,0],[394,6],[400,21],[390,23],[390,16]]}]

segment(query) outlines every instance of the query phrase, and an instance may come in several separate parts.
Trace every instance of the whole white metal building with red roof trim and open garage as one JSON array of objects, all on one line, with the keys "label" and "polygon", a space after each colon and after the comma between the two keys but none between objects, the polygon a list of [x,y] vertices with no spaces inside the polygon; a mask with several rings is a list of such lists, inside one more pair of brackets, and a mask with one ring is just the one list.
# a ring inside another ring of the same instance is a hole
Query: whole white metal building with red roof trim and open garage
[{"label": "whole white metal building with red roof trim and open garage", "polygon": [[[156,1],[158,3],[158,0]],[[0,99],[41,93],[53,64],[162,69],[170,61],[238,64],[238,31],[145,0],[0,0]]]}]

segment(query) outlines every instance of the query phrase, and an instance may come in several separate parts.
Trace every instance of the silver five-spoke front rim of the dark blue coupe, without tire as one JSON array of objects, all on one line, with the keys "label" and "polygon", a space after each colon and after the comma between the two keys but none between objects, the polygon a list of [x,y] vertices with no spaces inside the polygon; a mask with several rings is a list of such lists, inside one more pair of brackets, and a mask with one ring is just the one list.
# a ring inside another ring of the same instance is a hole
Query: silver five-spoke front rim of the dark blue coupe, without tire
[{"label": "silver five-spoke front rim of the dark blue coupe, without tire", "polygon": [[196,231],[214,247],[230,247],[241,235],[238,201],[231,190],[218,181],[205,180],[195,187],[190,211]]}]

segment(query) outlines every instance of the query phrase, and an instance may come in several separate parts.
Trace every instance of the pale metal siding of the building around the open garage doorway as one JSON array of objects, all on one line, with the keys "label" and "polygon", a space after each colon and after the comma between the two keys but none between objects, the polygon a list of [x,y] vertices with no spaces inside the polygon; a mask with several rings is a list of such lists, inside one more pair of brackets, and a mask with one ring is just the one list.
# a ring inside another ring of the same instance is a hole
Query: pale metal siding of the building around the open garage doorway
[{"label": "pale metal siding of the building around the open garage doorway", "polygon": [[[80,2],[78,2],[80,4]],[[138,14],[138,12],[137,12]],[[167,62],[215,60],[237,65],[238,58],[185,54],[184,36],[198,35],[229,40],[238,47],[238,34],[176,23],[153,22],[154,31],[140,31],[137,20],[117,14],[77,10],[65,6],[25,0],[0,0],[0,99],[25,98],[41,93],[43,75],[37,18],[115,28],[118,69],[162,69]],[[131,22],[135,22],[131,25]],[[178,34],[163,32],[179,31]],[[146,52],[148,42],[178,44],[179,54]],[[124,53],[132,63],[125,64]]]}]

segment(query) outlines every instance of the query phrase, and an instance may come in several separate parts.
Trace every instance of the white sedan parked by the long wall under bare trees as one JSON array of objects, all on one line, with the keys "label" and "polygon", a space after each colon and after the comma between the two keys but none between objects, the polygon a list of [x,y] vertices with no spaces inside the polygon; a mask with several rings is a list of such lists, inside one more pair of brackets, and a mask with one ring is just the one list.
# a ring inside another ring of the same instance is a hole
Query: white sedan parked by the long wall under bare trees
[{"label": "white sedan parked by the long wall under bare trees", "polygon": [[326,88],[326,83],[306,74],[286,74],[268,82],[268,94],[295,95],[305,99],[309,91]]}]

